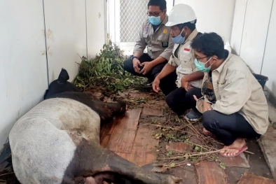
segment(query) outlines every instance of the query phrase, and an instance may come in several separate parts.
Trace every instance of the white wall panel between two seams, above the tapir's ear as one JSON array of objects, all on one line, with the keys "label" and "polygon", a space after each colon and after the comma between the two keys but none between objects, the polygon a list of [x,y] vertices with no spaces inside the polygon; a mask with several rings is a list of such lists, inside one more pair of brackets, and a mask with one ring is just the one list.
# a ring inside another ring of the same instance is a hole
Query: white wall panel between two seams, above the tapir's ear
[{"label": "white wall panel between two seams, above the tapir's ear", "polygon": [[85,0],[44,1],[49,80],[67,69],[70,79],[78,73],[80,55],[86,55]]}]

